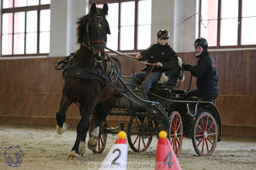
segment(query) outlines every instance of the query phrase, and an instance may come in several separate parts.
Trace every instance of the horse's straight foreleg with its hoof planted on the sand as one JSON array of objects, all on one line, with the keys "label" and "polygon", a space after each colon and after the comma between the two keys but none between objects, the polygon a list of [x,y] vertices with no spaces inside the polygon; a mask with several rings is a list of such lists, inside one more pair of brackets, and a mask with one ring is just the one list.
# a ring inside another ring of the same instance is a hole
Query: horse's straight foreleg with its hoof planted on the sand
[{"label": "horse's straight foreleg with its hoof planted on the sand", "polygon": [[[89,117],[90,114],[92,113],[92,110],[95,107],[95,102],[96,100],[92,100],[91,103],[87,105],[81,104],[81,120],[78,123],[77,126],[77,138],[74,142],[74,147],[72,148],[71,152],[68,154],[67,160],[69,161],[75,161],[78,159],[78,150],[79,150],[79,144],[81,141],[81,138],[85,138],[85,133],[88,131],[88,122],[89,122]],[[87,110],[85,110],[87,108]]]}]

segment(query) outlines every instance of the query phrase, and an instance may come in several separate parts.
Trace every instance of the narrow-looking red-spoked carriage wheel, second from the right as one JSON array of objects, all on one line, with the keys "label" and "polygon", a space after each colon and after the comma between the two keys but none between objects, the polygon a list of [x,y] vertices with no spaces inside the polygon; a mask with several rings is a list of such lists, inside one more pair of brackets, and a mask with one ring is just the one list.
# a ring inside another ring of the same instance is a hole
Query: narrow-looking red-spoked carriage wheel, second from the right
[{"label": "narrow-looking red-spoked carriage wheel, second from the right", "polygon": [[178,111],[173,111],[171,113],[171,121],[168,122],[167,133],[173,151],[175,151],[175,155],[178,155],[182,150],[183,140],[182,117]]}]

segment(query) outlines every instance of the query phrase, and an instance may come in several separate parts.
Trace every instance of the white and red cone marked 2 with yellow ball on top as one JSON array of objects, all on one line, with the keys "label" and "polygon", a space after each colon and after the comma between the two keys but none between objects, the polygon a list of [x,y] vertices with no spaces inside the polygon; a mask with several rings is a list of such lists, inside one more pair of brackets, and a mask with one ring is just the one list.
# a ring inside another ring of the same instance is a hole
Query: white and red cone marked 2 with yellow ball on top
[{"label": "white and red cone marked 2 with yellow ball on top", "polygon": [[119,131],[119,139],[109,150],[108,155],[100,165],[99,169],[122,169],[126,170],[127,166],[127,149],[126,145],[126,132]]}]

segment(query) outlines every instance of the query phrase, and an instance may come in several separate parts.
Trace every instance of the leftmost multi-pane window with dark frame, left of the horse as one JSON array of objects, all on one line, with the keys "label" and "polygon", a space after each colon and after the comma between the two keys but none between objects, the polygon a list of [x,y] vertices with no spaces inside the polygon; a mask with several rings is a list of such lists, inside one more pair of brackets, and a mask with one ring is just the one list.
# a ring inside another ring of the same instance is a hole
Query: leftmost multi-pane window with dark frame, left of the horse
[{"label": "leftmost multi-pane window with dark frame, left of the horse", "polygon": [[50,53],[50,0],[2,0],[1,56]]}]

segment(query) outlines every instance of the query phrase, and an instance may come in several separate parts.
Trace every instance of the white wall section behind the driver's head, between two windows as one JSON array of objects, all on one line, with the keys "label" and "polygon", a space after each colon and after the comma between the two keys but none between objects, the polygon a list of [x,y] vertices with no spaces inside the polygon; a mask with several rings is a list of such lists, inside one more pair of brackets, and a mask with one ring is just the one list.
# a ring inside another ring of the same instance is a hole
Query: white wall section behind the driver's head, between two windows
[{"label": "white wall section behind the driver's head, between two windows", "polygon": [[[198,0],[152,0],[151,42],[157,41],[160,29],[167,29],[171,37],[168,44],[176,52],[194,51],[192,46],[197,38]],[[188,19],[190,16],[192,18]],[[186,20],[187,19],[187,20]]]}]

